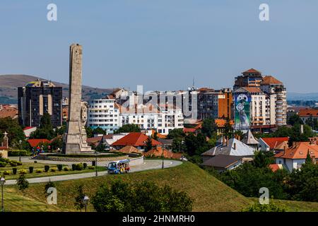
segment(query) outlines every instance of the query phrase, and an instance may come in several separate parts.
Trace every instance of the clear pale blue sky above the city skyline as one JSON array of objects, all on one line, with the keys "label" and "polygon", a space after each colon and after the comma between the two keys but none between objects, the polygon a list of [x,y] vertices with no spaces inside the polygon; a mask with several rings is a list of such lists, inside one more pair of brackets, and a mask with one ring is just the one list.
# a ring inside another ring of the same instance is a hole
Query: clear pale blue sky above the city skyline
[{"label": "clear pale blue sky above the city skyline", "polygon": [[[47,20],[57,4],[58,20]],[[269,4],[270,21],[259,20]],[[317,92],[317,0],[1,0],[0,74],[68,83],[83,45],[83,83],[99,88],[232,87],[259,69],[288,91]],[[1,84],[0,84],[1,85]]]}]

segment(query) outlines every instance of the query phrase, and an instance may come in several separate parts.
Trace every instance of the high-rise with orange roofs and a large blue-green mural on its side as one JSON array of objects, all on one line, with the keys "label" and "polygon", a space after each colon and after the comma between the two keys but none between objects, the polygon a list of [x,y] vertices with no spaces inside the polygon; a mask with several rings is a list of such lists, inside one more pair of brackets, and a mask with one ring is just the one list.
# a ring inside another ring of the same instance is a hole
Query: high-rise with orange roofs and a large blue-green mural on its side
[{"label": "high-rise with orange roofs and a large blue-green mural on its side", "polygon": [[249,69],[235,78],[235,127],[247,130],[287,123],[286,88],[273,76]]}]

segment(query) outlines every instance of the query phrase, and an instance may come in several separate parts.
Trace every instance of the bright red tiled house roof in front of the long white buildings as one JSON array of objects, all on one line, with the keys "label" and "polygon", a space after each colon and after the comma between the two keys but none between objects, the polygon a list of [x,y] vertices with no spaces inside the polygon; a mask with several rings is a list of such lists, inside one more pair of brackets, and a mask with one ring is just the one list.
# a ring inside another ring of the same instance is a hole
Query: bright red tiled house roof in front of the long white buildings
[{"label": "bright red tiled house roof in front of the long white buildings", "polygon": [[[134,147],[145,146],[148,136],[144,133],[129,133],[118,141],[112,143],[113,146],[131,145]],[[151,139],[153,146],[162,145],[159,141]]]}]

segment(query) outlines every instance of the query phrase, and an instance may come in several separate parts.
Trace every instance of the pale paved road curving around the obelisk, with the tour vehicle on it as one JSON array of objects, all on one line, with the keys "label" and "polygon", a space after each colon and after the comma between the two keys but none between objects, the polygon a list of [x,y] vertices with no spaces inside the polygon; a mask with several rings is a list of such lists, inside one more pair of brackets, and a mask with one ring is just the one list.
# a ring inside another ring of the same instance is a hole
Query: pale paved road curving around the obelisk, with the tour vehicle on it
[{"label": "pale paved road curving around the obelisk, with the tour vehicle on it", "polygon": [[[23,162],[25,162],[24,159],[23,159]],[[37,161],[37,162],[40,163],[40,161]],[[49,162],[47,161],[45,162],[49,164]],[[175,160],[165,160],[164,162],[165,162],[165,168],[176,167],[177,165],[182,164],[182,162],[175,161]],[[73,163],[74,162],[72,162],[71,164]],[[52,163],[52,164],[56,164],[56,163]],[[63,163],[59,163],[59,164],[63,164]],[[144,160],[143,165],[131,166],[131,171],[129,173],[145,171],[148,169],[161,169],[162,164],[163,164],[162,160]],[[105,162],[100,162],[100,164],[98,165],[105,166]],[[98,172],[98,176],[105,176],[105,175],[107,175],[107,171]],[[67,174],[67,175],[54,176],[54,177],[31,178],[31,179],[28,179],[28,182],[30,184],[46,183],[46,182],[49,182],[49,180],[51,180],[51,182],[61,182],[61,181],[67,181],[71,179],[83,179],[88,177],[95,177],[95,172],[88,172],[83,174]],[[16,184],[15,179],[6,181],[5,185],[13,185],[13,184]]]}]

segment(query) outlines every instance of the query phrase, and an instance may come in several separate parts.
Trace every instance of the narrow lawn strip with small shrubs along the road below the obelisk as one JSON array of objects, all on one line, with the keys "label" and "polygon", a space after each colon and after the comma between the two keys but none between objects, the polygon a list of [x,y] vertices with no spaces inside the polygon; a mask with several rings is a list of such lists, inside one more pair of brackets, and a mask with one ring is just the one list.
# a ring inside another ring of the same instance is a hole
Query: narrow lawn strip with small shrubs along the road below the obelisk
[{"label": "narrow lawn strip with small shrubs along the road below the obelisk", "polygon": [[[57,168],[57,165],[52,165],[51,167],[54,167],[54,168]],[[50,168],[51,168],[50,167]],[[69,167],[70,168],[70,167]],[[69,170],[69,171],[55,171],[55,172],[42,172],[42,173],[37,173],[35,172],[36,169],[43,169],[44,170],[44,165],[42,165],[42,167],[38,167],[38,168],[35,168],[33,173],[30,174],[25,174],[25,178],[27,179],[30,179],[30,178],[37,178],[37,177],[54,177],[54,176],[62,176],[62,175],[68,175],[68,174],[83,174],[83,173],[87,173],[87,172],[95,172],[95,169],[82,169],[82,170]],[[29,172],[29,169],[27,169],[28,172]],[[106,167],[98,167],[98,172],[101,172],[101,171],[105,171],[107,170]],[[0,171],[0,174],[2,174],[2,172]],[[20,176],[20,174],[16,174],[16,175],[13,175],[12,174],[12,169],[11,169],[11,174],[10,175],[6,175],[6,179],[18,179],[18,177]]]}]

